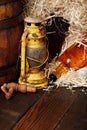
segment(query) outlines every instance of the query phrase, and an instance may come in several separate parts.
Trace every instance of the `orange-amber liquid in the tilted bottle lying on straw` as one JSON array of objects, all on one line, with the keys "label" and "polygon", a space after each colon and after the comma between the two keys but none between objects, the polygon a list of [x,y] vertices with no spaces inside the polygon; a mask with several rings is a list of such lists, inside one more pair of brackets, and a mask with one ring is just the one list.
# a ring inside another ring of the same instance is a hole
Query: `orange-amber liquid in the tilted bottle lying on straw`
[{"label": "orange-amber liquid in the tilted bottle lying on straw", "polygon": [[87,46],[85,45],[87,45],[87,41],[83,41],[83,44],[74,43],[58,57],[60,64],[53,71],[57,78],[70,68],[78,70],[87,65]]}]

